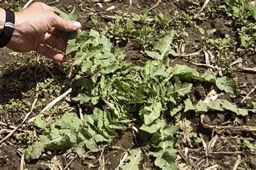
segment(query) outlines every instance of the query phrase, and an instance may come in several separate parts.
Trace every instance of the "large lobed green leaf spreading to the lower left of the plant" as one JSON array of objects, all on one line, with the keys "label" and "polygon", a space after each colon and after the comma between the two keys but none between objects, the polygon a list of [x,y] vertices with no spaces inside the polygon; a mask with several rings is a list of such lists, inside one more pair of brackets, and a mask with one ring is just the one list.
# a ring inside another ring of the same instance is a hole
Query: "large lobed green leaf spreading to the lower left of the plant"
[{"label": "large lobed green leaf spreading to the lower left of the plant", "polygon": [[[42,121],[36,119],[39,128],[45,126]],[[111,141],[117,134],[111,130],[113,121],[110,112],[101,111],[97,108],[93,115],[85,115],[81,121],[75,114],[66,114],[51,124],[49,136],[39,136],[40,141],[31,145],[25,152],[26,162],[40,157],[45,150],[64,150],[72,148],[73,152],[82,157],[85,148],[93,150],[99,141]],[[104,129],[104,131],[103,131]]]}]

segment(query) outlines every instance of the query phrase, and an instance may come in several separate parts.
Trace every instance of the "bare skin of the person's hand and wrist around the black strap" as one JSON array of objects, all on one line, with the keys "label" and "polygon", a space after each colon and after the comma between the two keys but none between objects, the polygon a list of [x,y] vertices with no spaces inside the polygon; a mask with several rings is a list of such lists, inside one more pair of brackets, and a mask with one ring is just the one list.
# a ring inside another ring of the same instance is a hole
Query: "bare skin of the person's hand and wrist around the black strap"
[{"label": "bare skin of the person's hand and wrist around the black strap", "polygon": [[[5,23],[5,11],[0,8],[0,29]],[[25,10],[15,12],[15,31],[6,47],[16,52],[36,51],[48,58],[65,62],[66,57],[48,46],[65,52],[66,40],[59,36],[58,30],[75,31],[81,27],[79,22],[60,18],[50,6],[35,2]],[[44,43],[44,34],[48,32]]]}]

